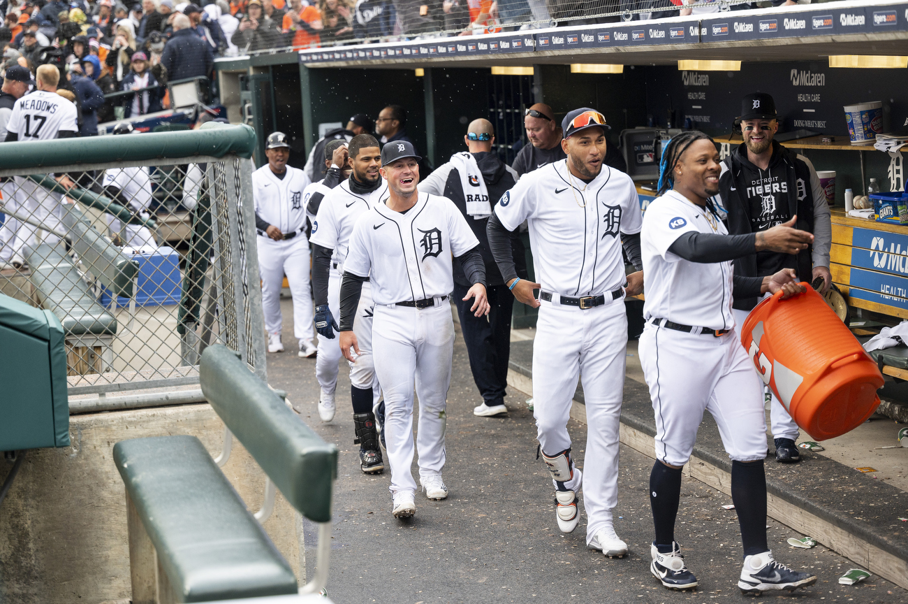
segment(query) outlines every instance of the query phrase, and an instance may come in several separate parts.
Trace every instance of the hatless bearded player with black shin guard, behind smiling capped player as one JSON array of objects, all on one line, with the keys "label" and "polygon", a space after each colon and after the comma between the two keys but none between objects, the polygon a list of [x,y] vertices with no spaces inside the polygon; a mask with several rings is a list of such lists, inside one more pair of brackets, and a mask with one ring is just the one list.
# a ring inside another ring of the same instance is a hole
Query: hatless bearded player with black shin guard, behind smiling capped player
[{"label": "hatless bearded player with black shin guard, behind smiling capped player", "polygon": [[[321,201],[312,223],[312,284],[315,294],[315,329],[319,332],[319,355],[315,376],[321,386],[319,414],[322,421],[334,417],[334,391],[338,381],[341,347],[334,340],[339,310],[341,277],[350,243],[350,233],[360,214],[366,213],[388,197],[388,185],[381,178],[379,142],[371,134],[358,134],[350,140],[353,173]],[[354,444],[360,443],[360,468],[367,474],[384,470],[381,449],[372,411],[378,399],[378,382],[372,363],[372,316],[374,304],[369,281],[362,284],[353,332],[360,345],[360,356],[350,364],[350,401],[353,403]]]}]

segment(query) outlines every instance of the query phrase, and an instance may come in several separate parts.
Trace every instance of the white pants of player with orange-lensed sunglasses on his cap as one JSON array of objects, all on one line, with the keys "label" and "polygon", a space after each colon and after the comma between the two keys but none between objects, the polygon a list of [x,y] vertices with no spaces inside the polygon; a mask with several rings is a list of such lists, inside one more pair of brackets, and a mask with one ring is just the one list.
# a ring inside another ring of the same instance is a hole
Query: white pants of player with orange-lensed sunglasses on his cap
[{"label": "white pants of player with orange-lensed sunglasses on his cap", "polygon": [[[617,506],[627,313],[623,298],[587,310],[554,302],[541,304],[533,342],[533,416],[542,451],[556,455],[568,449],[568,419],[579,377],[587,406],[582,480],[589,544],[597,530],[612,520]],[[572,451],[572,457],[577,459],[578,452]],[[565,486],[580,488],[568,482]]]}]

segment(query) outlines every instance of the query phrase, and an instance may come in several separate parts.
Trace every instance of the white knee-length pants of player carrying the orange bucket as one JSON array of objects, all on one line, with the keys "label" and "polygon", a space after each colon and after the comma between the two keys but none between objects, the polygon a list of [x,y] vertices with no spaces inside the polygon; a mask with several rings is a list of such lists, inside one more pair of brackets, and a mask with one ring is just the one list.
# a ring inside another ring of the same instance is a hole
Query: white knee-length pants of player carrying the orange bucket
[{"label": "white knee-length pants of player carrying the orange bucket", "polygon": [[716,419],[728,457],[766,457],[763,381],[735,332],[716,338],[646,323],[638,347],[656,413],[656,459],[683,466],[703,411]]}]

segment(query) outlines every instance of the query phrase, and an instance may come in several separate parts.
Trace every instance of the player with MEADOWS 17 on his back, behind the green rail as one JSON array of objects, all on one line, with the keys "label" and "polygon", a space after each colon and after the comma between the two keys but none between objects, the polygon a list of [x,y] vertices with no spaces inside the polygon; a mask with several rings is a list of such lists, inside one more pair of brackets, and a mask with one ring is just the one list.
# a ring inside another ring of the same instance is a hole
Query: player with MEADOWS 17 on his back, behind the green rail
[{"label": "player with MEADOWS 17 on his back, behind the green rail", "polygon": [[[60,72],[54,65],[40,65],[35,75],[35,92],[25,94],[15,102],[13,113],[6,123],[6,141],[46,141],[54,138],[71,138],[78,136],[78,114],[75,105],[56,94],[57,84],[60,81]],[[15,176],[15,200],[10,209],[27,215],[44,223],[51,229],[65,231],[60,222],[61,195],[49,193],[34,181]],[[56,177],[56,180],[66,187],[73,185],[65,175]],[[59,238],[54,233],[44,233],[44,243],[54,243]],[[20,266],[22,251],[25,245],[34,246],[37,243],[36,229],[28,223],[20,223],[15,236],[10,242],[11,255],[14,264]]]}]

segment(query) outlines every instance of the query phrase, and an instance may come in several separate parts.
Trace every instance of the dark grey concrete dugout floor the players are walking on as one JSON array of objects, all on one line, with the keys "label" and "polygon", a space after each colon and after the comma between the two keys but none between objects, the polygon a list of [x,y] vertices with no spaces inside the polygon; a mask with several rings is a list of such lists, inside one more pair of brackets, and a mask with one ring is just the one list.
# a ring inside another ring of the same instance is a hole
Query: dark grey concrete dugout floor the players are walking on
[{"label": "dark grey concrete dugout floor the players are walking on", "polygon": [[[376,478],[359,469],[359,447],[352,444],[350,381],[341,364],[338,414],[321,424],[316,401],[315,361],[296,356],[292,310],[282,301],[287,352],[268,355],[271,385],[289,393],[302,417],[323,438],[341,449],[329,593],[336,602],[707,602],[745,600],[736,587],[741,550],[734,510],[725,494],[685,478],[676,539],[688,568],[700,579],[696,592],[671,592],[650,574],[652,520],[646,496],[652,460],[621,447],[616,530],[630,556],[607,559],[587,550],[585,520],[570,535],[558,532],[552,488],[536,460],[536,431],[523,404],[528,397],[508,389],[507,419],[478,418],[472,408],[479,393],[469,373],[459,330],[448,396],[448,500],[418,494],[413,520],[390,515],[390,470]],[[585,426],[571,421],[574,450],[582,456]],[[578,463],[582,468],[582,463]],[[416,473],[414,465],[414,473]],[[621,517],[621,518],[618,518]],[[796,569],[811,569],[818,583],[794,596],[767,598],[820,602],[904,602],[908,592],[872,577],[857,586],[837,578],[856,565],[826,550],[794,550],[785,543],[801,535],[768,520],[769,543],[778,559]],[[315,559],[314,526],[307,533],[307,566]],[[787,592],[785,592],[787,594]]]}]

